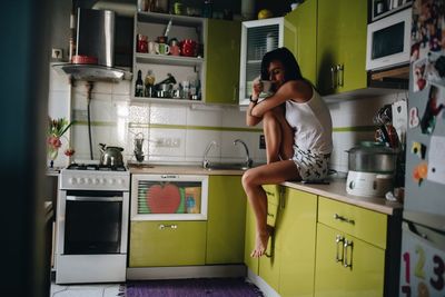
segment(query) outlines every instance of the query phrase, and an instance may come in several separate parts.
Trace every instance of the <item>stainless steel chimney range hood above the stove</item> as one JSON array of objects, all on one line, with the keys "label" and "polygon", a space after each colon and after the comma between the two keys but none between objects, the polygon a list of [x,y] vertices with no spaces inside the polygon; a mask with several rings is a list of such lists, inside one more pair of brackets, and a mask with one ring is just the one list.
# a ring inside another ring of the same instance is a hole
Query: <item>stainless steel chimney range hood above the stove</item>
[{"label": "stainless steel chimney range hood above the stove", "polygon": [[76,80],[130,80],[131,72],[113,67],[115,12],[79,8],[77,16],[76,56],[91,57],[97,63],[58,63],[52,66],[56,71]]}]

